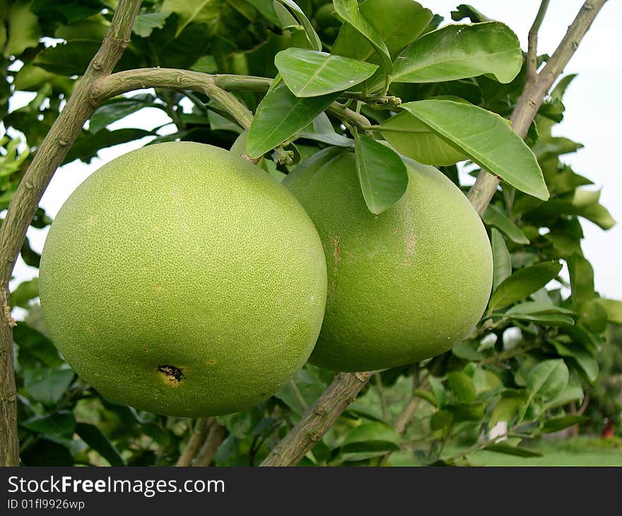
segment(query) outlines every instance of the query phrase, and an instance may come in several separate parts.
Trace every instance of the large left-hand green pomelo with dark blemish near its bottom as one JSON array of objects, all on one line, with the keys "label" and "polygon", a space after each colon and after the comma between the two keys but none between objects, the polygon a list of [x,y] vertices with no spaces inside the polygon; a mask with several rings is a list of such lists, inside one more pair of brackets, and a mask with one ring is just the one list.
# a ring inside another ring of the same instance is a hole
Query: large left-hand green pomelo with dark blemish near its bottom
[{"label": "large left-hand green pomelo with dark blemish near its bottom", "polygon": [[172,142],[104,165],[50,228],[54,343],[106,397],[172,416],[240,411],[307,360],[326,262],[295,197],[221,148]]}]

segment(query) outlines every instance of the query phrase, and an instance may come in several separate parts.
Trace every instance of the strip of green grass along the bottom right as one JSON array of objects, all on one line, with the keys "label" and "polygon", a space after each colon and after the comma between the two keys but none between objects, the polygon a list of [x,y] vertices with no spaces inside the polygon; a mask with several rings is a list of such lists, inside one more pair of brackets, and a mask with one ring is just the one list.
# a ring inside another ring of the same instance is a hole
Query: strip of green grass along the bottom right
[{"label": "strip of green grass along the bottom right", "polygon": [[[525,445],[542,457],[515,457],[495,452],[469,455],[473,466],[622,466],[622,440],[574,438],[564,441],[540,441]],[[461,450],[447,447],[447,457]],[[444,454],[445,455],[445,454]],[[399,452],[390,462],[394,466],[415,466],[411,452]]]}]

